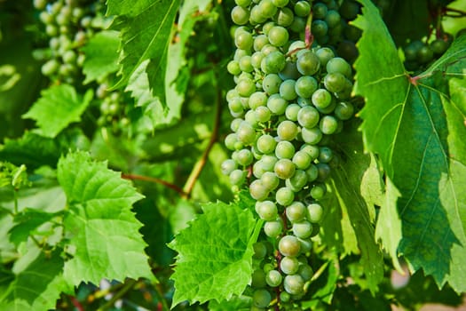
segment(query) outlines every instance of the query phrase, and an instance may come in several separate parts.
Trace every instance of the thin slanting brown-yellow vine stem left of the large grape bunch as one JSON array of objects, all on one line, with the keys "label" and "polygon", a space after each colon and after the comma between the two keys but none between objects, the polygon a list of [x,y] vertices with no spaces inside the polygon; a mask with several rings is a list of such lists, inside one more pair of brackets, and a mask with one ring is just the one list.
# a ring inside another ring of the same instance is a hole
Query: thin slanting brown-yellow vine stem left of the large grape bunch
[{"label": "thin slanting brown-yellow vine stem left of the large grape bunch", "polygon": [[[216,80],[218,81],[217,72],[215,72]],[[183,197],[189,198],[191,193],[193,192],[194,185],[199,179],[201,175],[202,169],[204,168],[207,160],[209,158],[209,153],[214,147],[214,144],[217,142],[218,139],[218,128],[220,127],[220,116],[222,115],[222,92],[217,86],[217,100],[216,100],[216,113],[215,113],[215,120],[214,120],[214,128],[212,130],[212,135],[209,139],[209,144],[205,148],[204,152],[202,153],[201,158],[194,164],[193,171],[189,175],[188,179],[186,180],[185,187],[183,187]]]}]

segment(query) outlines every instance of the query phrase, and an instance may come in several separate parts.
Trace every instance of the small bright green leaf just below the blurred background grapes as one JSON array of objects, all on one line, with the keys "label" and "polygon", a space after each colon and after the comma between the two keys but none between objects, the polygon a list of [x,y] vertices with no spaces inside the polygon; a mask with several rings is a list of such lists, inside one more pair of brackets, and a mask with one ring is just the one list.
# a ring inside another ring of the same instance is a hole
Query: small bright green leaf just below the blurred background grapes
[{"label": "small bright green leaf just below the blurred background grapes", "polygon": [[81,115],[91,102],[92,94],[92,90],[88,90],[81,97],[71,85],[54,85],[44,89],[42,97],[22,117],[36,120],[39,128],[34,132],[54,138],[69,124],[81,121]]}]

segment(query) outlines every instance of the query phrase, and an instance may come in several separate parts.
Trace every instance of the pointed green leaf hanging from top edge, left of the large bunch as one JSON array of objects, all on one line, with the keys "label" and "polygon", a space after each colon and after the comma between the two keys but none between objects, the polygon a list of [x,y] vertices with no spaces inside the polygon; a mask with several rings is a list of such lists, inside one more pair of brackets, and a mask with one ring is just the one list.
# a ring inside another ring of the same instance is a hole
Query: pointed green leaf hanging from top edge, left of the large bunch
[{"label": "pointed green leaf hanging from top edge, left of the large bunch", "polygon": [[[107,14],[116,15],[114,27],[121,30],[122,76],[115,87],[126,85],[146,60],[150,89],[165,105],[165,70],[173,22],[179,0],[138,0],[107,2]],[[166,107],[166,106],[165,106]]]}]

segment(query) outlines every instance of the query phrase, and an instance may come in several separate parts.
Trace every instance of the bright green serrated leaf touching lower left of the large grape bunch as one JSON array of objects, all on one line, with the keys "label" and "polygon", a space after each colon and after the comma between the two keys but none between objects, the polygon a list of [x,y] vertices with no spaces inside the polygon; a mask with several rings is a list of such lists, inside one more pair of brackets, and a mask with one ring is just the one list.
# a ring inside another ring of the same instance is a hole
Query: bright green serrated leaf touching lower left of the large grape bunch
[{"label": "bright green serrated leaf touching lower left of the large grape bunch", "polygon": [[207,203],[190,227],[169,244],[178,251],[173,306],[239,296],[252,275],[252,244],[261,223],[243,204]]}]

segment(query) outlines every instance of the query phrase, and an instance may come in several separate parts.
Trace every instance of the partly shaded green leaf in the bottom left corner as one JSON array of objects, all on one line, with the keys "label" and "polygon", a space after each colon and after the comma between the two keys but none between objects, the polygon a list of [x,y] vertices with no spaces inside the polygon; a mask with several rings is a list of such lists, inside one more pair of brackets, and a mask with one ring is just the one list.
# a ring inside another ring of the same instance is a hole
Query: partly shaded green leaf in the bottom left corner
[{"label": "partly shaded green leaf in the bottom left corner", "polygon": [[55,308],[60,292],[73,292],[63,278],[64,261],[60,250],[38,256],[15,275],[9,287],[0,294],[4,311],[43,311]]}]

